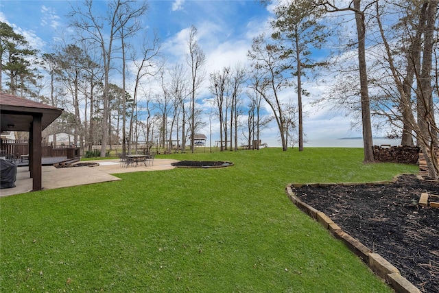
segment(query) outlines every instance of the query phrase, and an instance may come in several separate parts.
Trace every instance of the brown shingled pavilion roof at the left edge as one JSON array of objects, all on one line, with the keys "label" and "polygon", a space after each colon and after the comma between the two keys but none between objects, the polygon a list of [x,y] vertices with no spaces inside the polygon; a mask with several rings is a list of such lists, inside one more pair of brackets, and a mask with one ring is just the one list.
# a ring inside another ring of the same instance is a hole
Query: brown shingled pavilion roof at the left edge
[{"label": "brown shingled pavilion roof at the left edge", "polygon": [[62,109],[35,102],[8,93],[0,93],[1,131],[29,131],[34,115],[42,115],[41,126],[45,129]]}]

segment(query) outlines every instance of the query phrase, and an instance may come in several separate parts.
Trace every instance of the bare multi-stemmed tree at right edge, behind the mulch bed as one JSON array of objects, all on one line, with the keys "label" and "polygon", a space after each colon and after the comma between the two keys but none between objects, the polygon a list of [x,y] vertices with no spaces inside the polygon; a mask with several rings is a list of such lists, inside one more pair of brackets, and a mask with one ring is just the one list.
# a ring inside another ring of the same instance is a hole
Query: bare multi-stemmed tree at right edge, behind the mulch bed
[{"label": "bare multi-stemmed tree at right edge, behind the mulch bed", "polygon": [[[438,143],[437,131],[438,126],[434,119],[434,106],[432,102],[432,91],[431,80],[431,68],[432,68],[432,48],[433,39],[432,34],[434,31],[434,23],[436,21],[436,12],[438,10],[439,1],[423,1],[418,6],[417,17],[419,23],[416,26],[416,31],[414,32],[414,38],[412,38],[412,43],[409,44],[409,51],[407,53],[410,58],[407,58],[407,72],[403,75],[403,72],[396,65],[394,50],[392,49],[387,36],[385,36],[385,30],[383,28],[383,23],[381,21],[381,12],[379,11],[379,5],[376,5],[376,16],[377,23],[379,26],[379,32],[383,40],[383,45],[385,47],[385,60],[388,62],[388,67],[390,69],[390,74],[393,78],[394,84],[399,95],[388,95],[390,97],[390,102],[398,104],[399,107],[396,108],[386,108],[386,115],[390,117],[390,121],[402,121],[403,130],[409,133],[414,132],[417,137],[418,145],[420,145],[421,150],[425,155],[427,165],[429,167],[429,176],[431,178],[437,179],[439,174],[438,159],[434,152],[434,146]],[[414,17],[415,14],[410,14],[410,17]],[[407,15],[408,16],[408,15]],[[407,34],[407,33],[406,33]],[[421,36],[423,38],[423,46],[418,46],[421,41]],[[420,58],[423,61],[420,62]],[[427,73],[425,73],[427,71]],[[407,76],[407,73],[416,75],[416,103],[411,97],[411,88],[413,84],[407,84],[409,81],[413,82],[413,78]],[[386,105],[388,103],[383,103]],[[414,105],[416,104],[416,112],[418,113],[417,119],[414,116]]]}]

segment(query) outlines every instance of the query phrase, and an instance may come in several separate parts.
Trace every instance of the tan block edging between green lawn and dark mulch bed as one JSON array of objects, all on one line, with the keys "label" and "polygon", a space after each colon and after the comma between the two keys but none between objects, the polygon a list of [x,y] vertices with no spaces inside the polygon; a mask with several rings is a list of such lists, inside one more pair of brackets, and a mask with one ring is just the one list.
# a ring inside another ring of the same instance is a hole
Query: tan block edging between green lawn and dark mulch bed
[{"label": "tan block edging between green lawn and dark mulch bed", "polygon": [[[394,177],[392,181],[383,181],[375,182],[375,183],[366,183],[368,185],[378,185],[378,184],[390,184],[397,180],[398,176]],[[345,183],[346,184],[346,183]],[[331,183],[331,185],[345,185],[344,183]],[[365,183],[353,183],[353,185],[359,185]],[[300,198],[296,196],[293,189],[295,187],[302,186],[328,186],[328,183],[310,183],[310,184],[293,184],[290,183],[285,187],[285,191],[289,200],[291,200],[296,206],[309,215],[313,220],[319,222],[324,228],[329,230],[331,234],[340,239],[355,255],[360,257],[368,267],[377,274],[378,277],[383,279],[386,283],[388,283],[396,293],[420,293],[420,290],[416,288],[415,285],[410,283],[407,279],[401,276],[401,273],[397,268],[395,268],[392,263],[381,257],[381,255],[377,253],[372,253],[367,246],[359,242],[357,239],[345,233],[340,226],[335,224],[331,218],[325,215],[322,211],[318,211],[314,209],[309,204],[302,202]],[[345,185],[346,186],[346,185]]]}]

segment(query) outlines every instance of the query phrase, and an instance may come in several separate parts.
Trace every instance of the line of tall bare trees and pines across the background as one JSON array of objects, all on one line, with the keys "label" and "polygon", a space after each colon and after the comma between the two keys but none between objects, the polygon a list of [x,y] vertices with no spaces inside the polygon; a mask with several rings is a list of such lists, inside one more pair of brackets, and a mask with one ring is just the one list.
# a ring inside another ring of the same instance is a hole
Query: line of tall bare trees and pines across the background
[{"label": "line of tall bare trees and pines across the background", "polygon": [[[237,150],[260,141],[274,122],[283,150],[298,144],[302,151],[302,100],[309,81],[327,75],[329,91],[313,106],[358,117],[364,162],[374,161],[372,128],[385,127],[402,145],[416,141],[438,178],[438,1],[280,1],[270,28],[248,49],[248,65],[211,73],[197,27],[188,29],[185,62],[167,65],[161,40],[141,25],[147,2],[108,1],[104,15],[93,1],[76,4],[74,36],[51,53],[0,23],[1,90],[64,108],[49,134],[71,133],[84,150],[100,144],[102,156],[119,141],[123,152],[138,141],[169,150],[181,141],[193,151],[195,134],[209,123],[221,150]],[[204,84],[209,96],[200,95]]]}]

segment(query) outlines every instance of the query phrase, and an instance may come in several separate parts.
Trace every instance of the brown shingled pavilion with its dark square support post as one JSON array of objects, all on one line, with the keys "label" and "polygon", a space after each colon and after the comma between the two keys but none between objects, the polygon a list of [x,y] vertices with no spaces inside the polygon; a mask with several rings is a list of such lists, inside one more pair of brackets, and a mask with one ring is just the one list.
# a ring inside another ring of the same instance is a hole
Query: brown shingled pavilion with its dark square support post
[{"label": "brown shingled pavilion with its dark square support post", "polygon": [[41,185],[41,132],[62,113],[62,109],[16,95],[0,93],[1,131],[29,132],[29,171],[32,191]]}]

